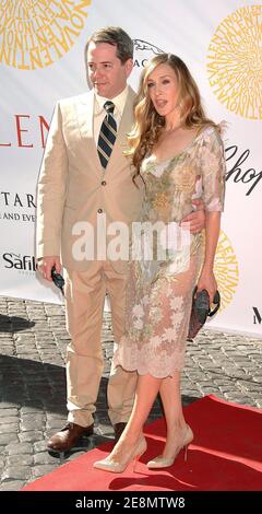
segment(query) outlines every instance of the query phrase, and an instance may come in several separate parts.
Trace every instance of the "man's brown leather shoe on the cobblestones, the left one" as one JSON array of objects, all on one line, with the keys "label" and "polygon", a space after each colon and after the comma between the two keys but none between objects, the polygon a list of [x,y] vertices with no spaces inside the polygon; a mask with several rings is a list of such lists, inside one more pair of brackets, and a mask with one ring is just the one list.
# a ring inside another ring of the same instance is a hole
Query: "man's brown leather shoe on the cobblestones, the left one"
[{"label": "man's brown leather shoe on the cobblestones, the left one", "polygon": [[81,427],[76,423],[68,423],[60,432],[57,432],[47,442],[47,448],[55,452],[69,452],[82,435],[92,435],[94,423],[90,427]]}]

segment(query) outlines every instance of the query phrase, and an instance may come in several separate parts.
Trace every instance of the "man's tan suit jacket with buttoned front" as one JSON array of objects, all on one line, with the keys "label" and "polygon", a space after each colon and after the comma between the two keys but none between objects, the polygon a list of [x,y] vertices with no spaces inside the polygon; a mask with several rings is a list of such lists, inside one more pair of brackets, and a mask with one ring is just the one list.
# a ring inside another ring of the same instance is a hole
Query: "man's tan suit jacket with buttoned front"
[{"label": "man's tan suit jacket with buttoned front", "polygon": [[[93,133],[93,91],[58,102],[40,168],[37,195],[37,257],[60,255],[68,269],[84,271],[91,260],[75,260],[72,235],[78,221],[96,230],[100,210],[107,222],[127,224],[140,217],[143,186],[132,182],[133,168],[123,154],[133,122],[135,93],[128,98],[107,168],[104,172]],[[104,184],[103,184],[104,183]],[[106,184],[105,184],[106,183]]]}]

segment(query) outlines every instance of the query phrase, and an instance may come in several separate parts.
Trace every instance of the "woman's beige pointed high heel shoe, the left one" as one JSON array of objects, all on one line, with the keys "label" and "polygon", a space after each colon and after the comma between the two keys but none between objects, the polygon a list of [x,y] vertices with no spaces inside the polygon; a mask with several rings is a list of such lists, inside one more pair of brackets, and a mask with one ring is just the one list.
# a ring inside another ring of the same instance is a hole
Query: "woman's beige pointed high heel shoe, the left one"
[{"label": "woman's beige pointed high heel shoe, the left one", "polygon": [[[104,469],[105,471],[110,471],[110,472],[123,472],[124,469],[128,467],[128,465],[134,460],[133,464],[133,471],[135,471],[135,466],[138,464],[139,458],[143,453],[145,453],[147,447],[146,441],[144,436],[140,437],[135,446],[131,448],[131,451],[128,453],[128,455],[124,456],[124,459],[122,462],[117,462],[114,460],[110,455],[108,455],[106,458],[103,460],[97,460],[94,463],[94,468],[97,469]],[[114,451],[112,451],[114,452]]]}]

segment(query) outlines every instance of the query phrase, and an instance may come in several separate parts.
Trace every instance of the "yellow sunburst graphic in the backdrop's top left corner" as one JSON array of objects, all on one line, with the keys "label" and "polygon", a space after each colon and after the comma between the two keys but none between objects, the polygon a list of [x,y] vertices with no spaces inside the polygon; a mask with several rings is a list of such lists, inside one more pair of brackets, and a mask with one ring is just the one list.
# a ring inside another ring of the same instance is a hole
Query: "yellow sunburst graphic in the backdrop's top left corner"
[{"label": "yellow sunburst graphic in the backdrop's top left corner", "polygon": [[0,2],[0,63],[20,70],[52,65],[83,31],[92,0]]}]

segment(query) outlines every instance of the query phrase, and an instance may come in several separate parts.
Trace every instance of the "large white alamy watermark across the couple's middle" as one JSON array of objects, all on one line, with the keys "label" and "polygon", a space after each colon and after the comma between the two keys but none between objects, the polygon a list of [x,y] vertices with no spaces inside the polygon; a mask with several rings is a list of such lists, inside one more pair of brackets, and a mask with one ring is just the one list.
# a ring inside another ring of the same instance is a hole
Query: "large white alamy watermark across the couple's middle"
[{"label": "large white alamy watermark across the couple's middle", "polygon": [[97,215],[96,225],[78,221],[72,226],[74,260],[158,260],[190,256],[190,223],[175,221],[107,223],[106,214]]}]

